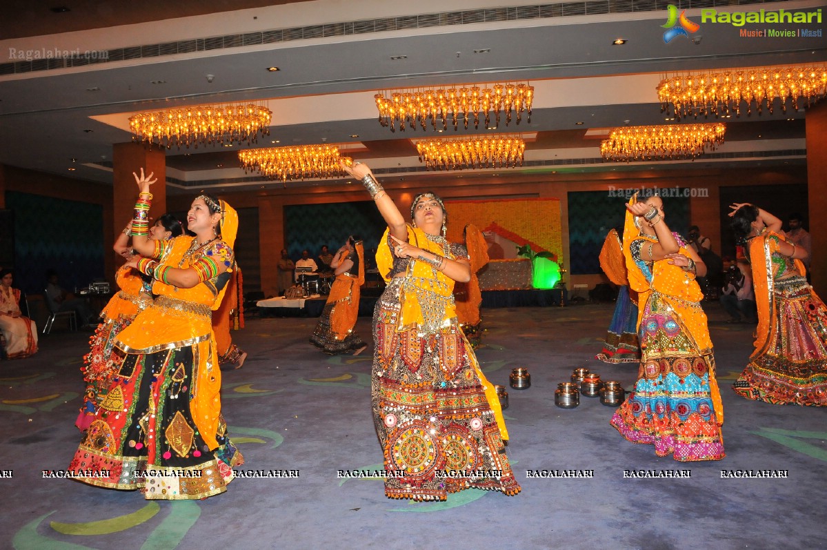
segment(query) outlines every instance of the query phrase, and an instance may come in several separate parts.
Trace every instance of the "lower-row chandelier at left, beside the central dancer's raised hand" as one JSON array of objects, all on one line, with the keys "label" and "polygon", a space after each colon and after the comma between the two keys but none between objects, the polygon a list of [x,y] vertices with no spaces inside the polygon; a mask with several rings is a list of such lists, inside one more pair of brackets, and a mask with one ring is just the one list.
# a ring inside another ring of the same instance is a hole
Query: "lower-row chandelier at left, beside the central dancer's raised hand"
[{"label": "lower-row chandelier at left, beside the central dancer's raised hand", "polygon": [[339,163],[352,162],[349,157],[341,156],[339,148],[333,145],[247,149],[238,151],[238,158],[245,172],[257,170],[267,178],[282,181],[343,175]]}]

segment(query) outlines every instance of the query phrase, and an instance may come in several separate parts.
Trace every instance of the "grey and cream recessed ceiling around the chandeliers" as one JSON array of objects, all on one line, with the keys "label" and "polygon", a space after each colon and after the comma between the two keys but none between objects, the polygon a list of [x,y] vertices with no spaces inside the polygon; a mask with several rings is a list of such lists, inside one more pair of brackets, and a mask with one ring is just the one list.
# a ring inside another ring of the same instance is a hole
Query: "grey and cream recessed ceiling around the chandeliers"
[{"label": "grey and cream recessed ceiling around the chandeliers", "polygon": [[[694,40],[678,36],[666,44],[662,25],[669,2],[659,0],[264,3],[6,2],[0,20],[0,163],[111,183],[112,144],[131,140],[131,114],[263,102],[274,113],[273,126],[255,146],[358,143],[353,156],[368,160],[380,176],[423,176],[412,139],[514,132],[528,136],[522,168],[473,172],[496,173],[500,180],[537,172],[601,175],[641,168],[601,160],[600,136],[609,127],[667,123],[655,93],[664,76],[827,60],[823,38],[743,37],[726,23],[705,22]],[[825,7],[810,0],[718,3],[719,11]],[[701,22],[700,7],[715,2],[680,5]],[[60,6],[69,11],[50,9]],[[617,38],[627,43],[613,45]],[[36,59],[55,50],[88,50],[108,59]],[[21,59],[26,53],[31,60]],[[270,66],[280,70],[269,72]],[[430,127],[391,132],[377,122],[373,96],[379,90],[526,80],[535,87],[534,108],[530,121],[523,115],[519,125],[449,126],[438,133]],[[725,121],[726,142],[700,160],[643,165],[802,165],[805,111],[779,107]],[[167,151],[169,192],[283,188],[241,170],[241,148],[246,144],[173,147]]]}]

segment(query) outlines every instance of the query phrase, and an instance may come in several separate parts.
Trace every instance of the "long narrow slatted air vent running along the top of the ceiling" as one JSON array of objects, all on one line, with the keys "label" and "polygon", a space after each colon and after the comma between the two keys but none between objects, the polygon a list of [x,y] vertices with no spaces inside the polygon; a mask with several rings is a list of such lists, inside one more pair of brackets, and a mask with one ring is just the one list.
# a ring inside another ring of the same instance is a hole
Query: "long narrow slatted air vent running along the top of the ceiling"
[{"label": "long narrow slatted air vent running along the top of the ceiling", "polygon": [[576,17],[606,13],[665,12],[669,4],[678,9],[699,7],[732,7],[778,0],[590,0],[588,2],[563,2],[554,4],[529,4],[516,7],[492,7],[466,12],[425,13],[418,16],[390,17],[354,22],[330,23],[251,32],[242,35],[209,36],[196,40],[168,42],[165,44],[138,45],[109,50],[107,56],[95,59],[66,58],[65,60],[17,61],[0,64],[0,74],[18,74],[65,67],[79,67],[90,63],[136,60],[193,53],[203,50],[223,50],[245,45],[272,44],[282,41],[299,41],[326,36],[360,35],[373,32],[399,31],[400,29],[424,29],[431,26],[473,25],[476,23],[507,22],[549,17]]}]

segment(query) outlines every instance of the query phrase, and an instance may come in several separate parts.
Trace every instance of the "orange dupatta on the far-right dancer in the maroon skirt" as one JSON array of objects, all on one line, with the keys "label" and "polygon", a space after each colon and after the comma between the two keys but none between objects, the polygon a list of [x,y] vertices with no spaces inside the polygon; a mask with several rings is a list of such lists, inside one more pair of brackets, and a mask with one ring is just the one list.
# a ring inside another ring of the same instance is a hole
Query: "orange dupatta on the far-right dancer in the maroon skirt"
[{"label": "orange dupatta on the far-right dancer in the maroon skirt", "polygon": [[[772,253],[778,251],[778,240],[770,238],[773,236],[786,241],[778,233],[769,230],[760,237],[754,237],[749,241],[749,264],[753,270],[755,304],[758,305],[758,328],[755,329],[755,351],[750,356],[751,359],[760,355],[767,345],[770,336],[770,319],[775,315],[775,300],[772,299],[772,293],[775,289]],[[795,260],[795,265],[798,274],[802,277],[805,276],[804,262]]]}]

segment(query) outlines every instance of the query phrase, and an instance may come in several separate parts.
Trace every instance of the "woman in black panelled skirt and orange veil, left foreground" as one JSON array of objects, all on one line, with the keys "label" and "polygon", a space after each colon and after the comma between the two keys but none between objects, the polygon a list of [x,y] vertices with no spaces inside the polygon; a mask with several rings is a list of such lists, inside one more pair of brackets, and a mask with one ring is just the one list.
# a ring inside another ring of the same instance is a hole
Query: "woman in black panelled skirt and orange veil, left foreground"
[{"label": "woman in black panelled skirt and orange veil, left foreground", "polygon": [[79,481],[141,489],[147,499],[203,499],[226,490],[242,463],[221,416],[210,315],[230,276],[238,218],[224,201],[199,195],[187,214],[195,237],[151,241],[151,178],[136,175],[132,246],[145,257],[128,263],[152,276],[156,298],[115,338],[124,360],[69,469],[96,472]]}]

